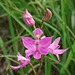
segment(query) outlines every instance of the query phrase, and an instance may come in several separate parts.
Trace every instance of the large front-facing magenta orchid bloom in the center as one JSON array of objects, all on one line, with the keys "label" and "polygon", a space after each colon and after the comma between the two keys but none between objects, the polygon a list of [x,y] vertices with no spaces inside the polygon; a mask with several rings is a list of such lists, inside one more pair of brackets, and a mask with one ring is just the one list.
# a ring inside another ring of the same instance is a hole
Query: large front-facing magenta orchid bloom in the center
[{"label": "large front-facing magenta orchid bloom in the center", "polygon": [[45,37],[39,40],[40,36],[43,34],[42,30],[37,28],[33,31],[36,40],[29,38],[29,37],[21,37],[24,46],[27,48],[25,50],[26,55],[30,56],[33,55],[35,59],[40,59],[41,54],[47,55],[48,50],[47,48],[51,44],[52,37]]}]

